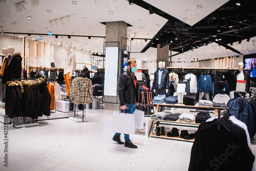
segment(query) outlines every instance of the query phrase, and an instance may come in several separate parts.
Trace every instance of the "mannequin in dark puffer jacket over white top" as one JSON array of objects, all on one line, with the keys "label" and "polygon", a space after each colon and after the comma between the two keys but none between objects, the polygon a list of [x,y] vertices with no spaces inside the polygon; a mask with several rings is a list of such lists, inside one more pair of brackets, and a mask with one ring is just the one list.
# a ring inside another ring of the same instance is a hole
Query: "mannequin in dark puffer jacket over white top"
[{"label": "mannequin in dark puffer jacket over white top", "polygon": [[164,70],[162,61],[158,62],[158,68],[159,69],[155,71],[153,89],[156,96],[168,93],[169,88],[169,73]]}]

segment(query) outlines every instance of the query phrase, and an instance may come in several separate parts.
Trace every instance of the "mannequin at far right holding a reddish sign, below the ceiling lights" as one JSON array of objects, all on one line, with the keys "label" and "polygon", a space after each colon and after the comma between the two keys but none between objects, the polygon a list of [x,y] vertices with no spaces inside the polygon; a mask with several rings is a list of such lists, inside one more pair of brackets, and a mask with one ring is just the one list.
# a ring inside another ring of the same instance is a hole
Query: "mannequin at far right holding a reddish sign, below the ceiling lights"
[{"label": "mannequin at far right holding a reddish sign, below the ceiling lights", "polygon": [[245,86],[245,92],[246,97],[249,96],[249,90],[250,90],[250,75],[247,72],[244,72],[244,63],[239,62],[238,63],[238,69],[239,71],[233,72],[231,77],[231,92],[230,95],[232,96],[234,94],[233,91],[236,91],[237,88],[237,80],[246,80],[246,86]]}]

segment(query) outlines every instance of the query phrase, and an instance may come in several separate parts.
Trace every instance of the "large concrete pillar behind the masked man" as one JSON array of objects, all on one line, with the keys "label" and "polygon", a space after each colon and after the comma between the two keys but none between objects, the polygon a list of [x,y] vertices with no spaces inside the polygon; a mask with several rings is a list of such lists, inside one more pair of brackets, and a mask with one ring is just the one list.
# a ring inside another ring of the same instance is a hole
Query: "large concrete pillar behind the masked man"
[{"label": "large concrete pillar behind the masked man", "polygon": [[[117,73],[117,88],[113,91],[116,91],[116,96],[104,96],[104,109],[110,109],[110,110],[120,110],[120,104],[119,104],[119,98],[118,98],[118,82],[119,77],[122,74],[122,56],[123,56],[123,50],[124,47],[127,45],[127,23],[120,21],[120,22],[107,22],[106,23],[106,48],[108,47],[118,47],[118,73]],[[106,52],[108,53],[108,52]],[[107,54],[106,54],[107,55]],[[107,59],[106,59],[107,60]],[[106,68],[111,68],[111,64],[108,66],[106,62],[105,70]],[[105,75],[105,80],[113,78],[109,78],[108,75]],[[106,91],[105,91],[106,93]]]}]

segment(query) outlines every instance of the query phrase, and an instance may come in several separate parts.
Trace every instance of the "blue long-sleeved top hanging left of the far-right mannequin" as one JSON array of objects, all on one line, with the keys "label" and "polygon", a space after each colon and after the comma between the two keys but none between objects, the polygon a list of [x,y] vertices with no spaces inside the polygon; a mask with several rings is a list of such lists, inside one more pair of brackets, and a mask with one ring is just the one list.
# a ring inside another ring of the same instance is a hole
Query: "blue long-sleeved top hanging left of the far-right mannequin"
[{"label": "blue long-sleeved top hanging left of the far-right mannequin", "polygon": [[[212,94],[212,82],[211,82],[211,76],[210,75],[200,75],[198,79],[198,86],[197,86],[197,92],[207,92],[209,94]],[[200,99],[199,99],[200,100]]]}]

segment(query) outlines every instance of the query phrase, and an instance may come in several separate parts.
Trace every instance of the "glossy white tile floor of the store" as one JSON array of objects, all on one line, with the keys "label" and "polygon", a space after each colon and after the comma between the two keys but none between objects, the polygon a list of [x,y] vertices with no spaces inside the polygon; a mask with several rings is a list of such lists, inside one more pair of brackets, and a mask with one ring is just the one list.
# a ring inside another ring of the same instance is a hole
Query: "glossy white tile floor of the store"
[{"label": "glossy white tile floor of the store", "polygon": [[[65,119],[39,121],[20,129],[8,125],[9,163],[3,165],[4,124],[0,123],[0,170],[147,170],[188,169],[193,143],[131,135],[138,149],[112,140],[111,110],[86,110],[89,122]],[[184,129],[184,128],[183,128]],[[123,140],[123,135],[121,136]],[[252,143],[256,152],[256,143]]]}]

